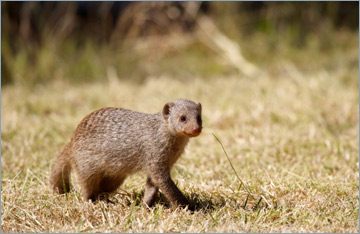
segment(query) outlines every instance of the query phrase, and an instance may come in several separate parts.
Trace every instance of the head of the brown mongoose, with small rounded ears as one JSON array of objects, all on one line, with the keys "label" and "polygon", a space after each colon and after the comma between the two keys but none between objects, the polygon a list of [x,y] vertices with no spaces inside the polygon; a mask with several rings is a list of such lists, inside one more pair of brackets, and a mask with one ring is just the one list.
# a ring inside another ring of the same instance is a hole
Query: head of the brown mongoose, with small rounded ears
[{"label": "head of the brown mongoose, with small rounded ears", "polygon": [[173,135],[196,137],[201,133],[201,104],[177,99],[164,105],[163,118]]}]

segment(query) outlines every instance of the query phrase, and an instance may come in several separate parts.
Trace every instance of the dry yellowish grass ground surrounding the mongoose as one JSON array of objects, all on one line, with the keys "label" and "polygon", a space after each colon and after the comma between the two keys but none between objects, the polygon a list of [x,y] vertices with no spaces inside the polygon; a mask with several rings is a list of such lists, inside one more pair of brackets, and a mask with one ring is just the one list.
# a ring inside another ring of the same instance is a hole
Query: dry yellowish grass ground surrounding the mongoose
[{"label": "dry yellowish grass ground surrounding the mongoose", "polygon": [[[1,231],[358,232],[357,72],[8,86],[1,95]],[[114,204],[50,191],[52,160],[87,113],[104,106],[153,113],[178,97],[203,105],[204,131],[173,169],[197,205],[194,214],[171,211],[164,198],[142,208],[141,173],[110,197]]]}]

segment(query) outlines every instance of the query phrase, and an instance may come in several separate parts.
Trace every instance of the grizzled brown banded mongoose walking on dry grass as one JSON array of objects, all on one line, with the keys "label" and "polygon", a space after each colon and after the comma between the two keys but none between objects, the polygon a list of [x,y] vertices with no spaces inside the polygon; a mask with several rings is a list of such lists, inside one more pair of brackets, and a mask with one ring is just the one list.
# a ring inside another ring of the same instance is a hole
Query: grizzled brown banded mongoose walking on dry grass
[{"label": "grizzled brown banded mongoose walking on dry grass", "polygon": [[201,130],[201,104],[186,99],[168,102],[156,114],[99,109],[80,122],[57,156],[51,186],[55,192],[68,192],[73,168],[84,200],[94,201],[99,193],[115,191],[127,176],[143,170],[147,174],[144,204],[151,207],[160,189],[173,207],[188,206],[170,170],[189,138]]}]

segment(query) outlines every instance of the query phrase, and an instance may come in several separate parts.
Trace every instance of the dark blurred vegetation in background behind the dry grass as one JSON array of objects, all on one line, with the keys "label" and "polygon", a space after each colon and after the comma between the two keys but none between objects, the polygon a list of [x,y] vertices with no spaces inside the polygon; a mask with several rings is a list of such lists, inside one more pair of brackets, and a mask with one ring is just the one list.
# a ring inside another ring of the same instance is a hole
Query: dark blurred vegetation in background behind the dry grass
[{"label": "dark blurred vegetation in background behind the dry grass", "polygon": [[358,2],[1,2],[1,84],[236,74],[198,39],[204,16],[260,67],[333,69],[354,47],[358,67]]}]

